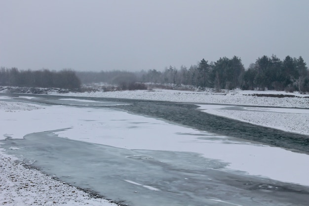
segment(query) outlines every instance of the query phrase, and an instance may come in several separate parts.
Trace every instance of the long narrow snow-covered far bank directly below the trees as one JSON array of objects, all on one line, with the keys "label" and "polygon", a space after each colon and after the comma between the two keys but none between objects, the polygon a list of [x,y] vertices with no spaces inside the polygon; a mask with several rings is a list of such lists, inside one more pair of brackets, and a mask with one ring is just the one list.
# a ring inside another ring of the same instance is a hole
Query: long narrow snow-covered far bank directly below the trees
[{"label": "long narrow snow-covered far bank directly below the trees", "polygon": [[[251,106],[273,106],[273,107],[299,107],[309,108],[309,94],[287,93],[284,91],[251,91],[251,90],[227,90],[221,93],[212,90],[197,91],[179,91],[179,90],[135,90],[135,91],[108,91],[108,92],[70,92],[59,94],[51,92],[54,95],[65,96],[85,96],[85,97],[107,97],[107,98],[128,98],[128,99],[147,99],[162,100],[173,102],[196,102],[196,103],[214,103],[214,104],[237,104]],[[295,97],[266,97],[253,94],[276,94],[291,95]]]}]

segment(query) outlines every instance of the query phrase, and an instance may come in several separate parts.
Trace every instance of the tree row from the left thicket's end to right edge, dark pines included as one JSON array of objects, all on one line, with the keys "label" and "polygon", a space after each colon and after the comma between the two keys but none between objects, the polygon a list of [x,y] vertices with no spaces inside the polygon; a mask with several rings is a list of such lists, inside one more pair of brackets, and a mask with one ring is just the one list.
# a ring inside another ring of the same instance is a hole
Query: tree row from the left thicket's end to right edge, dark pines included
[{"label": "tree row from the left thicket's end to right edge, dark pines included", "polygon": [[300,56],[286,56],[282,61],[275,55],[259,57],[245,70],[241,59],[222,57],[216,62],[202,59],[189,69],[169,66],[163,72],[155,69],[141,72],[77,72],[83,83],[107,82],[128,84],[130,82],[154,82],[193,85],[215,89],[259,89],[309,92],[309,71]]}]

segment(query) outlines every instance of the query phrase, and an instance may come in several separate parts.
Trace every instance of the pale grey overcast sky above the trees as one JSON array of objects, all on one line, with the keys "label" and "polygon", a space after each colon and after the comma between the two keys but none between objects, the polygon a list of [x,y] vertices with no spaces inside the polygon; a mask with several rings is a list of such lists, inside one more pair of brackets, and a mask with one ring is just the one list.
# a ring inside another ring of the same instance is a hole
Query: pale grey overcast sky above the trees
[{"label": "pale grey overcast sky above the trees", "polygon": [[309,0],[1,0],[0,66],[163,70],[302,56]]}]

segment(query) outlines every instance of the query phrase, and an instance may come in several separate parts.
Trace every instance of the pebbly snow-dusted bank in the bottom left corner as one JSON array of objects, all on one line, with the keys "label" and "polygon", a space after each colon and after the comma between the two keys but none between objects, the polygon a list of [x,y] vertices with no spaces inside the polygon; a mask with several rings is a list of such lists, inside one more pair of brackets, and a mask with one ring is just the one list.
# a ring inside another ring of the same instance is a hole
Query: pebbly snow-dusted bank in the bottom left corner
[{"label": "pebbly snow-dusted bank in the bottom left corner", "polygon": [[7,206],[116,206],[91,197],[76,187],[62,183],[0,151],[0,205]]}]

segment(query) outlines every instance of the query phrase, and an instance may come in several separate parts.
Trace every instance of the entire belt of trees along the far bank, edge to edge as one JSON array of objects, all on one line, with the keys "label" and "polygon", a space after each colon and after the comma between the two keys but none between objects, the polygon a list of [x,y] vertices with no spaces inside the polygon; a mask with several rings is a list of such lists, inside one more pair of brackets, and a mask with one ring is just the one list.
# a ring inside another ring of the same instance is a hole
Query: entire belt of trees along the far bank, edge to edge
[{"label": "entire belt of trees along the far bank, edge to edge", "polygon": [[259,57],[255,63],[245,69],[241,59],[222,57],[208,62],[202,59],[190,68],[181,66],[180,69],[169,66],[164,71],[142,70],[76,72],[62,70],[59,72],[47,69],[39,71],[19,71],[17,68],[1,68],[0,85],[57,87],[80,90],[81,84],[106,82],[120,86],[121,89],[147,89],[143,83],[192,85],[199,88],[215,88],[244,90],[278,90],[309,92],[309,71],[306,62],[300,56],[286,56],[282,61],[275,55]]}]

